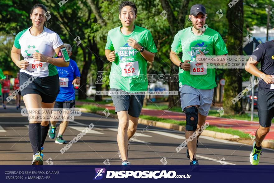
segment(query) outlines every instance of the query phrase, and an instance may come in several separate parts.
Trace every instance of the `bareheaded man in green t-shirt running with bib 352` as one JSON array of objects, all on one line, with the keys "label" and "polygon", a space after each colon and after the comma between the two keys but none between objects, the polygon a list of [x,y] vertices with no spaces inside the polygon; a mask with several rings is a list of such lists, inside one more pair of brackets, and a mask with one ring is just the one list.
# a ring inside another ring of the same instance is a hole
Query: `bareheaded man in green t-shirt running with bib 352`
[{"label": "bareheaded man in green t-shirt running with bib 352", "polygon": [[128,140],[134,135],[143,107],[144,95],[129,95],[121,92],[146,91],[147,61],[153,62],[157,52],[149,30],[134,24],[137,7],[125,1],[119,5],[122,26],[108,32],[105,54],[112,62],[110,88],[115,112],[119,118],[117,142],[122,165],[128,162]]}]

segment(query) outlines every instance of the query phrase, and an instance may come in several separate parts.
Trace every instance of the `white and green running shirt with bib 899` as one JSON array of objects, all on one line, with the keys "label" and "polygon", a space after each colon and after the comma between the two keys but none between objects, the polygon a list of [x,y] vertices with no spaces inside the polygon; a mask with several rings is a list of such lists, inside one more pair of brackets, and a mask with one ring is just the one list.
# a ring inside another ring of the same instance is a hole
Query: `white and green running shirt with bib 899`
[{"label": "white and green running shirt with bib 899", "polygon": [[17,49],[21,49],[24,60],[30,63],[25,70],[21,69],[20,72],[39,77],[57,75],[58,72],[55,65],[34,61],[32,54],[38,52],[47,57],[54,57],[54,49],[63,45],[62,40],[58,34],[46,27],[44,27],[43,32],[38,36],[32,36],[29,31],[30,28],[19,32],[14,40],[14,46]]}]

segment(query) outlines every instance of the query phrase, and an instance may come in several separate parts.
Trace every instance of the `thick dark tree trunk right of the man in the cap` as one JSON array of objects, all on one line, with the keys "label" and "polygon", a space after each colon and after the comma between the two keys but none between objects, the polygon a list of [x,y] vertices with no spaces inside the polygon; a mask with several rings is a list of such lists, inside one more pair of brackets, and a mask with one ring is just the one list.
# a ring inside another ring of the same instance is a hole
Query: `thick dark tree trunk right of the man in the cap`
[{"label": "thick dark tree trunk right of the man in the cap", "polygon": [[[229,55],[243,55],[243,0],[239,0],[233,7],[227,9]],[[242,91],[241,69],[227,69],[224,73],[224,99],[225,113],[239,114],[243,111],[241,100],[232,103],[232,99]]]}]

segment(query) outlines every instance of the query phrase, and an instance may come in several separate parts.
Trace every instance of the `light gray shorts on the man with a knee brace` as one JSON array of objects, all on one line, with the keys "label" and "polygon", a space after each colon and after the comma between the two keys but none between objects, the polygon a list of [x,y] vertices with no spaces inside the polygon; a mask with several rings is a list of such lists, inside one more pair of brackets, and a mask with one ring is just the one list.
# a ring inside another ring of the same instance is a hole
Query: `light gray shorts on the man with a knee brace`
[{"label": "light gray shorts on the man with a knee brace", "polygon": [[198,105],[198,113],[207,116],[212,99],[214,89],[195,89],[186,84],[179,88],[182,110],[190,105]]}]

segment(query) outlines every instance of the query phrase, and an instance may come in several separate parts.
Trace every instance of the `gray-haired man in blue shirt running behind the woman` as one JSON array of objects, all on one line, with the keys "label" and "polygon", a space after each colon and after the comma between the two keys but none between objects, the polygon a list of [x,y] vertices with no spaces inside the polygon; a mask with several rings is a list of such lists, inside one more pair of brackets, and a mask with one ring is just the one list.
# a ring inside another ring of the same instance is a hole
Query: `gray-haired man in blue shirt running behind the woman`
[{"label": "gray-haired man in blue shirt running behind the woman", "polygon": [[[71,46],[64,44],[69,56],[72,55]],[[77,67],[77,63],[70,59],[68,67],[57,67],[59,74],[60,91],[56,98],[54,108],[74,108],[75,107],[75,94],[73,84],[80,84],[80,71]],[[56,121],[50,122],[49,137],[55,138]],[[63,134],[68,126],[68,121],[62,121],[60,123],[60,129],[55,140],[57,144],[65,144],[66,141],[63,139]]]}]

